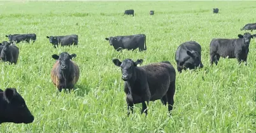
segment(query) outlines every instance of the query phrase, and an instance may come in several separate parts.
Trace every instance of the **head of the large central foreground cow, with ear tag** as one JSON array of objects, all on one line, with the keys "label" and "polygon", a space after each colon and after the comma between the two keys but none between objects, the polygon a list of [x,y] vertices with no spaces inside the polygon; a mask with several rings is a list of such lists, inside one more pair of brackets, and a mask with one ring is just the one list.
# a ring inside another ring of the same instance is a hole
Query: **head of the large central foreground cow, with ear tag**
[{"label": "head of the large central foreground cow, with ear tag", "polygon": [[134,68],[143,62],[142,59],[138,59],[136,62],[132,61],[131,59],[125,59],[122,62],[118,59],[113,59],[112,61],[116,66],[121,67],[122,79],[124,81],[130,80],[134,74]]}]

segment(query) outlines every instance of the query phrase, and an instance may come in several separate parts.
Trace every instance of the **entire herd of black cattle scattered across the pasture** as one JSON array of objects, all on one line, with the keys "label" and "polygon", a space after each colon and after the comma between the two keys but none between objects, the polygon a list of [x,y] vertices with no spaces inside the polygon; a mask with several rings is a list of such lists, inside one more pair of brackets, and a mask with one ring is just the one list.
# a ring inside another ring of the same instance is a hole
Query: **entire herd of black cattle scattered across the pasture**
[{"label": "entire herd of black cattle scattered across the pasture", "polygon": [[[218,13],[218,8],[213,9],[213,13]],[[125,15],[134,16],[134,10],[125,10]],[[154,15],[154,11],[150,11]],[[255,30],[256,23],[248,23],[241,30]],[[1,61],[17,64],[19,49],[16,46],[19,42],[35,42],[36,34],[13,34],[6,35],[9,41],[0,43]],[[256,34],[238,35],[236,39],[212,39],[210,42],[210,64],[218,64],[220,56],[223,58],[236,58],[240,64],[247,61],[249,45],[251,39]],[[53,47],[78,45],[78,35],[46,36]],[[122,49],[146,51],[146,35],[119,35],[105,38],[116,51]],[[175,53],[175,61],[178,72],[181,70],[203,68],[201,61],[201,46],[196,41],[183,42],[178,46]],[[80,69],[73,58],[76,54],[62,52],[59,55],[53,54],[55,60],[50,76],[53,84],[59,91],[62,89],[73,89],[80,77]],[[138,66],[143,63],[142,59],[133,61],[125,59],[112,60],[113,64],[121,68],[122,80],[124,80],[124,91],[126,94],[127,110],[133,112],[133,106],[142,103],[141,113],[147,114],[147,104],[149,101],[160,99],[163,105],[168,106],[169,115],[174,104],[174,92],[176,71],[169,61],[150,63]],[[29,124],[34,121],[34,117],[25,105],[25,101],[18,94],[15,88],[0,89],[0,124],[3,122],[13,122],[16,124]]]}]

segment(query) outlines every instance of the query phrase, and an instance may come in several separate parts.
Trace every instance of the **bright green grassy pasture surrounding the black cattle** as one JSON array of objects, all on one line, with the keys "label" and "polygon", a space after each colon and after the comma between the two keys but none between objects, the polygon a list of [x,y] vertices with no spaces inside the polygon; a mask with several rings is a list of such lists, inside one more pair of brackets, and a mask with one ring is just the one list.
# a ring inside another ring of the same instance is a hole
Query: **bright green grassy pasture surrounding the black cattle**
[{"label": "bright green grassy pasture surrounding the black cattle", "polygon": [[[0,88],[16,87],[34,115],[32,124],[0,125],[0,132],[256,132],[256,40],[248,65],[220,58],[210,66],[210,41],[238,38],[255,23],[255,1],[1,1],[0,40],[35,33],[34,44],[20,43],[17,65],[0,63]],[[213,14],[213,8],[219,8]],[[124,16],[125,9],[135,15]],[[155,10],[150,16],[149,11]],[[76,25],[77,23],[77,25]],[[250,31],[248,31],[250,32]],[[255,31],[251,32],[256,34]],[[54,49],[46,35],[78,34],[78,46]],[[147,51],[117,52],[105,37],[145,34]],[[176,72],[171,117],[167,106],[141,104],[127,117],[124,81],[113,58],[143,59],[142,65],[170,61],[185,41],[202,46],[204,68]],[[77,54],[76,91],[58,92],[50,79],[52,54]]]}]

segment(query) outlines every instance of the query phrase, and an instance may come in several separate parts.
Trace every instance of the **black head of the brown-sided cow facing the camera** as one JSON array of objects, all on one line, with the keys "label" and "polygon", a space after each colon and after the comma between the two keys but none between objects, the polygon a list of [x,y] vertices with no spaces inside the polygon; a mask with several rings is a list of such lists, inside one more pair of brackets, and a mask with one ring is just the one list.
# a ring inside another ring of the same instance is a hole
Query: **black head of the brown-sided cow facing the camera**
[{"label": "black head of the brown-sided cow facing the camera", "polygon": [[69,54],[67,52],[62,52],[60,53],[60,55],[58,56],[57,54],[53,54],[52,58],[55,60],[59,60],[60,63],[60,70],[62,71],[66,71],[69,69],[69,65],[71,64],[71,60],[72,58],[75,58],[76,54]]}]

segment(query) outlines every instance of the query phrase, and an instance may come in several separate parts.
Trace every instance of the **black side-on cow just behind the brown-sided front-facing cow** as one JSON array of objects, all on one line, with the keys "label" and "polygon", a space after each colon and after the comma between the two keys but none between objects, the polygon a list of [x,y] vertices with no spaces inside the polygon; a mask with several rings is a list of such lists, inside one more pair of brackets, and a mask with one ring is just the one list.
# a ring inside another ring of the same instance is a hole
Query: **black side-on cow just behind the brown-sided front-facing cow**
[{"label": "black side-on cow just behind the brown-sided front-facing cow", "polygon": [[50,43],[56,48],[55,45],[61,46],[70,46],[72,44],[78,44],[78,35],[64,35],[64,36],[46,36],[49,39]]}]

